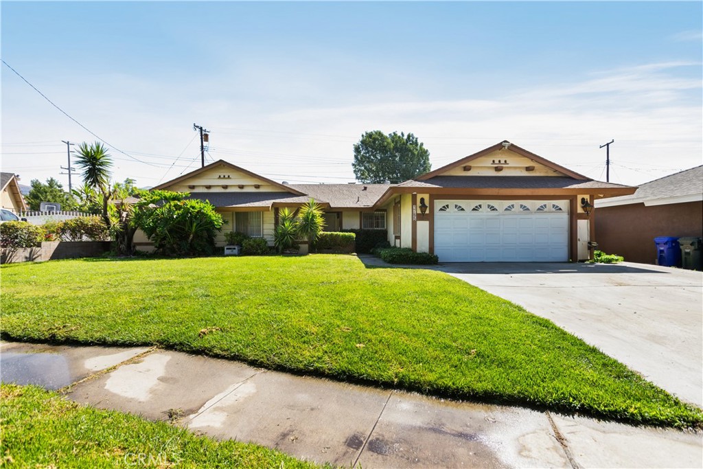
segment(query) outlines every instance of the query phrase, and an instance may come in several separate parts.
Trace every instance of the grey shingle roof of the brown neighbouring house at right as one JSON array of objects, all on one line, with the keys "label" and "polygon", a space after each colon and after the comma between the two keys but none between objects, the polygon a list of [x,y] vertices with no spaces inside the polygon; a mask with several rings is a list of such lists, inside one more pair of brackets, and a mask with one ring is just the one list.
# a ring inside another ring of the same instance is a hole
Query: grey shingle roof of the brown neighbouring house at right
[{"label": "grey shingle roof of the brown neighbouring house at right", "polygon": [[644,203],[666,205],[703,200],[703,165],[642,184],[632,195],[598,200],[597,207]]}]

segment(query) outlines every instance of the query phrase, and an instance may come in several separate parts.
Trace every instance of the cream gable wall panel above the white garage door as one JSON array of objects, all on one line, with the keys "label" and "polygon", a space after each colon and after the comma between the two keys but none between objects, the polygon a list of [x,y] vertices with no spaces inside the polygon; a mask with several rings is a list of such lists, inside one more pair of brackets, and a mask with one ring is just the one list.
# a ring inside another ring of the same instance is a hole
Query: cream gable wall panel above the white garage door
[{"label": "cream gable wall panel above the white garage door", "polygon": [[[496,166],[492,164],[501,161],[503,170],[496,172]],[[507,160],[507,163],[503,163]],[[464,171],[464,166],[470,166],[470,171]],[[534,166],[534,171],[527,171],[528,166]],[[510,150],[496,150],[489,155],[476,158],[466,165],[458,165],[449,171],[441,173],[441,176],[563,176],[553,169],[540,165],[539,163],[518,155]]]}]

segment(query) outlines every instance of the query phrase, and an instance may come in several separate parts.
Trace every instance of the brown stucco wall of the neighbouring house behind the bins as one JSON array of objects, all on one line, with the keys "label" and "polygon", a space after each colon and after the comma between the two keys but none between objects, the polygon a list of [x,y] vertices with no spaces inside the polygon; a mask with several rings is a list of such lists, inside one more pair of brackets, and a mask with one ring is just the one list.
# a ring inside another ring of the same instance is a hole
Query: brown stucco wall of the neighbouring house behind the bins
[{"label": "brown stucco wall of the neighbouring house behind the bins", "polygon": [[598,249],[629,262],[654,264],[657,236],[703,237],[703,202],[618,205],[600,207],[594,214]]}]

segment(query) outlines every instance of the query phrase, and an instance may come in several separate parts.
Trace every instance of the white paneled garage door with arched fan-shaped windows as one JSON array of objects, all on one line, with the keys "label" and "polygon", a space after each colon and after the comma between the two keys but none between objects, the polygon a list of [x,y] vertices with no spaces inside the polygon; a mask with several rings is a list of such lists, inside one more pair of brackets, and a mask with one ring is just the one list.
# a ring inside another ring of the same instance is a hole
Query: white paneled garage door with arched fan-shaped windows
[{"label": "white paneled garage door with arched fan-shaped windows", "polygon": [[566,200],[436,200],[439,262],[565,262]]}]

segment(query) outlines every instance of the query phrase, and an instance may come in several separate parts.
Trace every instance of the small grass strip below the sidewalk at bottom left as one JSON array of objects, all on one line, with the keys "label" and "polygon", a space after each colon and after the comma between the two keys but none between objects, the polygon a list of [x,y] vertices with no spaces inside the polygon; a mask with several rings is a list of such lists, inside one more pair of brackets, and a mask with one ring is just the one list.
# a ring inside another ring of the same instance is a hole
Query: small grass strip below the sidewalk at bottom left
[{"label": "small grass strip below the sidewalk at bottom left", "polygon": [[165,422],[101,411],[34,386],[0,387],[7,468],[316,468],[256,444],[216,442]]}]

